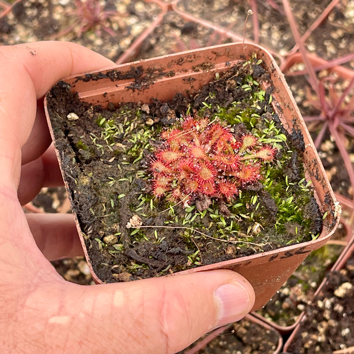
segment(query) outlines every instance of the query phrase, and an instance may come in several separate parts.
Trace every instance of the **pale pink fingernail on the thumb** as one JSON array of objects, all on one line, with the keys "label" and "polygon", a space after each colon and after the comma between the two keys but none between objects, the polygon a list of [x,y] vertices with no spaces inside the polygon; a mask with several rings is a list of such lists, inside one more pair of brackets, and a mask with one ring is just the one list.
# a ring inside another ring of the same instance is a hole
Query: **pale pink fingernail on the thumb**
[{"label": "pale pink fingernail on the thumb", "polygon": [[219,305],[216,327],[239,321],[251,310],[250,294],[239,282],[219,286],[214,296]]}]

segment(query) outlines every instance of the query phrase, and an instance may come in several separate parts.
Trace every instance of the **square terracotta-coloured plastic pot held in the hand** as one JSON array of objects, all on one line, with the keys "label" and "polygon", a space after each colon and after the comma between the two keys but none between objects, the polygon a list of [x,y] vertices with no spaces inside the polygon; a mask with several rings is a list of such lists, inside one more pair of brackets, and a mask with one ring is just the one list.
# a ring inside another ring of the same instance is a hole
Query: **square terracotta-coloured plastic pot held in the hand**
[{"label": "square terracotta-coloured plastic pot held in the hand", "polygon": [[[152,97],[167,101],[175,96],[177,92],[185,94],[186,92],[197,91],[212,78],[215,78],[216,72],[229,68],[230,64],[244,62],[245,56],[251,57],[253,53],[257,55],[257,58],[263,60],[263,64],[270,72],[273,85],[276,87],[276,90],[272,93],[274,98],[272,104],[275,112],[279,113],[284,128],[289,132],[293,131],[293,129],[300,131],[303,135],[306,147],[303,156],[304,167],[307,171],[308,179],[311,179],[313,183],[318,205],[322,212],[326,212],[322,232],[318,239],[312,241],[184,270],[181,274],[213,269],[231,269],[239,272],[251,282],[255,289],[256,302],[252,310],[256,310],[267,303],[309,252],[318,249],[326,243],[336,229],[340,217],[340,207],[332,192],[306,125],[290,89],[286,85],[284,75],[282,75],[278,65],[276,65],[269,53],[256,45],[226,44],[118,65],[109,70],[105,69],[102,72],[70,77],[63,81],[70,85],[68,89],[78,92],[80,99],[92,104],[101,104],[104,108],[108,106],[109,102],[135,101],[144,103],[150,102]],[[206,62],[208,65],[202,65]],[[200,69],[206,66],[207,69]],[[122,77],[121,75],[129,71],[132,72],[137,67],[139,67],[139,72],[145,73],[139,78],[139,90],[127,88],[127,86],[133,84],[131,79],[115,79],[114,75]],[[145,72],[147,68],[150,69]],[[154,79],[151,78],[152,71],[155,75]],[[190,84],[190,82],[193,83]],[[51,127],[46,104],[45,101],[48,124]],[[63,156],[59,151],[57,151],[57,156],[61,165]],[[65,185],[68,188],[66,180]],[[71,198],[70,193],[69,195]],[[74,216],[93,279],[100,283],[102,280],[98,279],[95,272],[93,272],[90,257],[85,247],[85,240],[79,228],[78,215],[74,213]]]}]

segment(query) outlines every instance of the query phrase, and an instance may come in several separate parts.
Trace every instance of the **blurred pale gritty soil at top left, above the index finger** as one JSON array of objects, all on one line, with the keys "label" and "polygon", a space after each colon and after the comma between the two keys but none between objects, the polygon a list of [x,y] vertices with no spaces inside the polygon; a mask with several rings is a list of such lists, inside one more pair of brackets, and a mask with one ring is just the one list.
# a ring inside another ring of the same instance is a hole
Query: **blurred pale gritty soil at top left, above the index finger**
[{"label": "blurred pale gritty soil at top left, above the index finger", "polygon": [[162,11],[154,2],[139,0],[82,1],[76,7],[78,4],[74,0],[18,2],[0,18],[0,44],[71,41],[116,61]]}]

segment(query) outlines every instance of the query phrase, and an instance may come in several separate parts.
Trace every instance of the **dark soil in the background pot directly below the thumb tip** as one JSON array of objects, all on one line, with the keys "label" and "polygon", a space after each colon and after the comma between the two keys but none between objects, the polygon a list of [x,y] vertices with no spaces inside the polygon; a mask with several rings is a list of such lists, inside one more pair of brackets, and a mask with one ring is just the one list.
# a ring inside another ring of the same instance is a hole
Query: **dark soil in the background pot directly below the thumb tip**
[{"label": "dark soil in the background pot directly below the thumb tip", "polygon": [[[193,343],[187,350],[193,348],[199,341]],[[243,319],[233,323],[203,349],[198,352],[193,351],[193,354],[273,354],[278,343],[279,333]],[[187,350],[178,354],[187,353]]]}]

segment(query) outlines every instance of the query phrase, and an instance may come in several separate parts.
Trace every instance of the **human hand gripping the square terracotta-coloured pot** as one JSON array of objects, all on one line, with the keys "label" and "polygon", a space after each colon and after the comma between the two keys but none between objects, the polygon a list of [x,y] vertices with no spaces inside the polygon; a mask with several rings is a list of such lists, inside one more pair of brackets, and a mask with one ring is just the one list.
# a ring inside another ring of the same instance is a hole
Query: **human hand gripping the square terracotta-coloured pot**
[{"label": "human hand gripping the square terracotta-coloured pot", "polygon": [[48,261],[82,249],[72,215],[21,207],[41,187],[63,184],[43,96],[65,76],[113,65],[73,43],[0,47],[1,353],[176,353],[255,301],[230,270],[80,286]]}]

